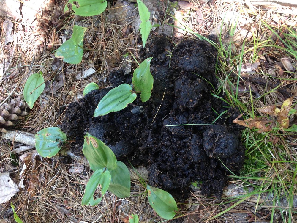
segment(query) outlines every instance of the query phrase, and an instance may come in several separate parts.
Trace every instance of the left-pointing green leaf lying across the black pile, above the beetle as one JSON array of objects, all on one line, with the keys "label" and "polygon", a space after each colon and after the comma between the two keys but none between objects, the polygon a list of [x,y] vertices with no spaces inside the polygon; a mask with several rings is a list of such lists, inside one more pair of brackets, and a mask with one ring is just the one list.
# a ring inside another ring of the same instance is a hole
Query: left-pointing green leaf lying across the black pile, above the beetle
[{"label": "left-pointing green leaf lying across the black pile, above the beetle", "polygon": [[136,99],[129,84],[121,84],[111,89],[99,102],[94,112],[94,117],[117,112],[127,107]]}]

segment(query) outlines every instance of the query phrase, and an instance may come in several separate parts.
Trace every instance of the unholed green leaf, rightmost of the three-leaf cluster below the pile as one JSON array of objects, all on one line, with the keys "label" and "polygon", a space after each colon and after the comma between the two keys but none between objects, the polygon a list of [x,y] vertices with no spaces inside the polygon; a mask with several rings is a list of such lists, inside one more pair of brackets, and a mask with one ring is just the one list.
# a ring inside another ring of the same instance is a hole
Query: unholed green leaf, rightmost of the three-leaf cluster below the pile
[{"label": "unholed green leaf, rightmost of the three-leaf cluster below the pile", "polygon": [[116,164],[117,168],[110,171],[111,181],[108,190],[117,197],[129,197],[131,191],[129,169],[121,161],[117,161]]}]

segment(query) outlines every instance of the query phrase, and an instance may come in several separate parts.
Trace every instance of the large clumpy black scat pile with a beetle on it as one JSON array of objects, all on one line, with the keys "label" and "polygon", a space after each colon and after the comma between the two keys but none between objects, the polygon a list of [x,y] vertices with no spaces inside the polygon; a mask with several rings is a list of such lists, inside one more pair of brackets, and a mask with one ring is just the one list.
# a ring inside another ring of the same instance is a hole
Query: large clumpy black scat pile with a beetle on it
[{"label": "large clumpy black scat pile with a beetle on it", "polygon": [[[238,172],[243,164],[244,147],[239,129],[232,123],[235,110],[230,109],[214,125],[205,125],[226,109],[222,100],[210,93],[217,86],[216,51],[206,42],[184,40],[169,61],[166,45],[165,36],[157,36],[140,52],[142,60],[153,57],[154,87],[148,102],[138,97],[122,111],[92,117],[110,89],[92,91],[68,106],[62,130],[76,137],[74,152],[81,153],[82,136],[88,131],[105,142],[118,160],[125,162],[128,158],[134,165],[146,166],[148,183],[178,199],[188,194],[193,181],[202,182],[203,194],[220,197],[227,182],[227,168]],[[121,72],[109,76],[109,81],[117,85],[126,79]],[[143,106],[144,112],[132,114],[134,106]],[[170,126],[181,124],[204,125]]]}]

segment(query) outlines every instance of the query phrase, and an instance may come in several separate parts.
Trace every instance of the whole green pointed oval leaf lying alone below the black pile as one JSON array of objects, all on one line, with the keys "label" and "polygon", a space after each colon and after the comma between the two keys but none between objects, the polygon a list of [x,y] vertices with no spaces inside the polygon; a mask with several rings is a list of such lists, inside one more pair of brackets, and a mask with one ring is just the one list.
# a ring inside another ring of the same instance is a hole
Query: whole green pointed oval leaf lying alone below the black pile
[{"label": "whole green pointed oval leaf lying alone below the black pile", "polygon": [[156,213],[166,219],[172,219],[178,211],[174,198],[166,191],[147,185],[149,192],[149,204]]}]

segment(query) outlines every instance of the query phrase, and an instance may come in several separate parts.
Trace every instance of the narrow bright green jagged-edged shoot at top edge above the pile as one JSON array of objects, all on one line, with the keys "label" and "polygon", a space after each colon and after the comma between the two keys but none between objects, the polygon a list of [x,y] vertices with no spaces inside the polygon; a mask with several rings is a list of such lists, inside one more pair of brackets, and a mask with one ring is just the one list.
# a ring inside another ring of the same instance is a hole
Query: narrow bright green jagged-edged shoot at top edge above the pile
[{"label": "narrow bright green jagged-edged shoot at top edge above the pile", "polygon": [[149,20],[151,13],[149,12],[149,9],[146,7],[146,5],[140,1],[137,0],[138,4],[138,11],[139,11],[139,16],[140,16],[140,34],[142,38],[142,45],[143,47],[146,45],[146,40],[149,37],[149,33],[151,31],[152,25]]}]

